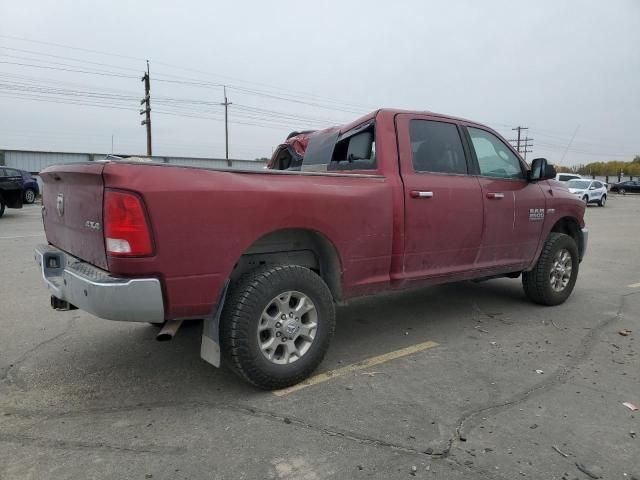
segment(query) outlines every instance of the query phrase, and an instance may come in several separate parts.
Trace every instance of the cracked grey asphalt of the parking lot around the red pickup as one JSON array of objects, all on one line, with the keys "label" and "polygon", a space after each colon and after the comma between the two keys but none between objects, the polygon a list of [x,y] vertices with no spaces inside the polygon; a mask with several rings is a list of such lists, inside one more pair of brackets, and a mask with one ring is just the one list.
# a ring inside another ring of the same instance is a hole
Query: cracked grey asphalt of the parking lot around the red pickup
[{"label": "cracked grey asphalt of the parking lot around the red pickup", "polygon": [[7,210],[0,479],[640,479],[640,412],[622,405],[640,406],[639,214],[640,196],[588,208],[558,307],[511,279],[340,307],[320,371],[439,346],[277,397],[201,361],[198,323],[158,343],[152,326],[51,310],[39,209]]}]

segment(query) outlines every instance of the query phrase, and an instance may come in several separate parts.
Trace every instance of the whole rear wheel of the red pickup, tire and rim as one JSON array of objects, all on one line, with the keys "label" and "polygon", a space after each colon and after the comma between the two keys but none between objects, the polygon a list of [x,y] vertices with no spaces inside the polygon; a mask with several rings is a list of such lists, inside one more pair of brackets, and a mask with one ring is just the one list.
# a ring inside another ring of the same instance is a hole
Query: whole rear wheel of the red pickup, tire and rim
[{"label": "whole rear wheel of the red pickup, tire and rim", "polygon": [[220,325],[225,360],[266,390],[307,378],[320,364],[335,328],[331,292],[314,272],[269,266],[232,286]]}]

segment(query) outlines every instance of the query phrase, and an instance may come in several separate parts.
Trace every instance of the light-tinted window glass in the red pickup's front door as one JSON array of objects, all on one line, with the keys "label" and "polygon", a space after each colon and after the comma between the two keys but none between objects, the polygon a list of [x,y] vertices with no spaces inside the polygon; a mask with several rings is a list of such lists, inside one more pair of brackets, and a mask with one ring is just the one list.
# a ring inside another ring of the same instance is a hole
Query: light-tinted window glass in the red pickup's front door
[{"label": "light-tinted window glass in the red pickup's front door", "polygon": [[524,178],[518,157],[495,135],[479,128],[467,129],[478,158],[480,175],[498,178]]}]

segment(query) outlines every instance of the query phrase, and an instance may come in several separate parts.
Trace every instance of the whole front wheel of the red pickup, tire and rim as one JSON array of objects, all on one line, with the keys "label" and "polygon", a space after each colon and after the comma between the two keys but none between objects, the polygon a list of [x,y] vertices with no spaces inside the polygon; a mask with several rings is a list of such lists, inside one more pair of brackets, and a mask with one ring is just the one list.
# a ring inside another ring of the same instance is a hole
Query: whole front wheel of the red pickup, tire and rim
[{"label": "whole front wheel of the red pickup, tire and rim", "polygon": [[576,284],[579,265],[578,247],[573,238],[551,232],[533,269],[522,274],[527,297],[541,305],[563,303]]}]

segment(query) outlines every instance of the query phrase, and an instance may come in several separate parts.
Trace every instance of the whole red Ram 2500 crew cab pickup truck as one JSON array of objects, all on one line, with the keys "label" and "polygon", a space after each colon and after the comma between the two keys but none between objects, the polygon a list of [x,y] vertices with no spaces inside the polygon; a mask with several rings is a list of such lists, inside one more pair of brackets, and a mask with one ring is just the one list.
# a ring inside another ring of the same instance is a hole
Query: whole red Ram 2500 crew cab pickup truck
[{"label": "whole red Ram 2500 crew cab pickup truck", "polygon": [[584,203],[478,123],[378,110],[294,134],[269,167],[47,168],[36,260],[52,306],[174,330],[204,319],[202,358],[271,389],[318,366],[337,302],[522,275],[555,305],[575,285]]}]

